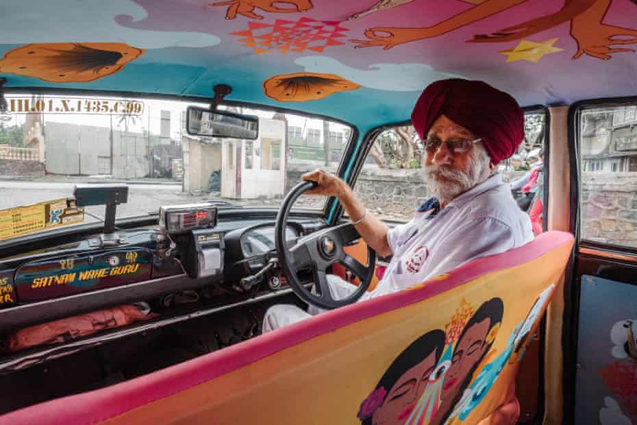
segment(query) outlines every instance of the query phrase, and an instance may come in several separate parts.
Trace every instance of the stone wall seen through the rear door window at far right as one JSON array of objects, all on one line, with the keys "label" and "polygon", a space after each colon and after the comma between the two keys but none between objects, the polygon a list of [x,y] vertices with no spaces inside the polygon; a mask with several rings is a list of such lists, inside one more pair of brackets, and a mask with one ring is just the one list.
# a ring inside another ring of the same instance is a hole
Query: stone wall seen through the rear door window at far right
[{"label": "stone wall seen through the rear door window at far right", "polygon": [[582,239],[637,247],[637,173],[584,173]]}]

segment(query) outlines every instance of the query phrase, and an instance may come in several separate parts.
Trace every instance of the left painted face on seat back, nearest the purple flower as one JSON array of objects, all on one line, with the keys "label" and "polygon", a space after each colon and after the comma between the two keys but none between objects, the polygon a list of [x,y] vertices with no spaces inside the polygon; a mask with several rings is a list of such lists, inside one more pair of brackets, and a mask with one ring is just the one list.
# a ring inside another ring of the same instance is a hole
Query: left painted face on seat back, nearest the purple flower
[{"label": "left painted face on seat back, nearest the purple flower", "polygon": [[423,395],[427,378],[434,372],[436,352],[432,352],[401,376],[387,393],[383,404],[374,412],[372,422],[377,425],[405,422],[414,405]]}]

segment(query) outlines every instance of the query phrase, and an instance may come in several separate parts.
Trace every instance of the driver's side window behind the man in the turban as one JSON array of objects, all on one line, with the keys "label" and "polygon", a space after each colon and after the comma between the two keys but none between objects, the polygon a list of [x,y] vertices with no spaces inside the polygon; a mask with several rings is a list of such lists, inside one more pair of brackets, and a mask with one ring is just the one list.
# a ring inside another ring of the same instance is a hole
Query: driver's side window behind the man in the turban
[{"label": "driver's side window behind the man in the turban", "polygon": [[[498,167],[503,180],[511,183],[520,208],[532,215],[536,232],[542,231],[545,121],[544,112],[525,114],[523,143]],[[423,143],[412,125],[385,130],[367,154],[355,192],[382,219],[409,221],[430,197],[423,180],[423,154]]]}]

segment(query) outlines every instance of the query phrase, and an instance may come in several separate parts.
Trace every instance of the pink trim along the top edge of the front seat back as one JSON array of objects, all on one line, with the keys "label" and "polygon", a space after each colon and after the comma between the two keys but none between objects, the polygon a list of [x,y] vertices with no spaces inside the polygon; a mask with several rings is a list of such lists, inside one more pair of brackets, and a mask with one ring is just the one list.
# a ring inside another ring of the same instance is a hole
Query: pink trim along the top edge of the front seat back
[{"label": "pink trim along the top edge of the front seat back", "polygon": [[[420,302],[478,276],[523,265],[572,241],[573,236],[569,233],[546,232],[523,247],[503,254],[479,258],[458,267],[451,271],[445,280],[431,280],[420,289],[400,291],[329,311],[258,338],[112,387],[36,404],[1,416],[0,424],[95,424],[205,383],[331,330]],[[69,409],[68,406],[73,408]]]}]

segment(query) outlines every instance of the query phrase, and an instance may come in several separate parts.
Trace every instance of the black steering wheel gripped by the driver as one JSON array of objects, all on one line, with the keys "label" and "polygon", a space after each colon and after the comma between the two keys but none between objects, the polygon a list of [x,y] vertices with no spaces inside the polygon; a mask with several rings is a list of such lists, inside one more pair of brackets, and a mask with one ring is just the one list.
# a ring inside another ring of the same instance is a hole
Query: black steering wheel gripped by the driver
[{"label": "black steering wheel gripped by the driver", "polygon": [[[369,288],[374,276],[376,252],[367,245],[367,265],[362,265],[349,256],[343,247],[360,239],[360,234],[352,223],[332,226],[303,236],[293,247],[286,243],[286,223],[292,204],[308,189],[316,187],[316,182],[301,182],[289,193],[279,209],[275,226],[275,245],[279,256],[279,264],[283,269],[288,284],[301,300],[320,308],[338,308],[353,304]],[[329,266],[340,263],[358,276],[360,284],[347,298],[335,300],[327,285],[326,271]],[[310,291],[301,284],[297,271],[311,268],[314,275],[314,289]]]}]

